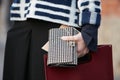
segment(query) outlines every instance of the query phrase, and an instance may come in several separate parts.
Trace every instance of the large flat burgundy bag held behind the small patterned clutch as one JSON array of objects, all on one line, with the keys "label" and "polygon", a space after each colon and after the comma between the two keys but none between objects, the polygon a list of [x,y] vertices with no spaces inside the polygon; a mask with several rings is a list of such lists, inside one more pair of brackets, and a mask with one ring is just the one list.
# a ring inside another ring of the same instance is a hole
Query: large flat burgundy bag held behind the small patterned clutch
[{"label": "large flat burgundy bag held behind the small patterned clutch", "polygon": [[113,80],[112,46],[99,45],[97,52],[79,58],[76,67],[49,67],[44,56],[46,80]]}]

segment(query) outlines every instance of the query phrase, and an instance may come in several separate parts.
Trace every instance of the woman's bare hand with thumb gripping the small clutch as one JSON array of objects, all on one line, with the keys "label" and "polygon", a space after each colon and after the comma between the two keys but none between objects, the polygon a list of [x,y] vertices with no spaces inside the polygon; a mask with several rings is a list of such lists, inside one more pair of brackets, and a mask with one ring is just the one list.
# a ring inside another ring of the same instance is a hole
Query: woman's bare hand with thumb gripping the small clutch
[{"label": "woman's bare hand with thumb gripping the small clutch", "polygon": [[61,39],[65,41],[75,41],[77,44],[78,57],[83,57],[89,52],[89,49],[83,40],[81,32],[74,36],[62,36]]}]

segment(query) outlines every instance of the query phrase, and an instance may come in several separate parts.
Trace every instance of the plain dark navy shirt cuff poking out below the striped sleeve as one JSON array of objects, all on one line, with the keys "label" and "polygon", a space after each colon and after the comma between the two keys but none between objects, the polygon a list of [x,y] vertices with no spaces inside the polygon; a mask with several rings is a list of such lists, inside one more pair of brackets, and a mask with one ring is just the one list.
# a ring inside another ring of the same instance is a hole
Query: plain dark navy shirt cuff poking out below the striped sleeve
[{"label": "plain dark navy shirt cuff poking out below the striped sleeve", "polygon": [[82,37],[90,51],[97,50],[98,29],[94,25],[85,25],[81,29]]}]

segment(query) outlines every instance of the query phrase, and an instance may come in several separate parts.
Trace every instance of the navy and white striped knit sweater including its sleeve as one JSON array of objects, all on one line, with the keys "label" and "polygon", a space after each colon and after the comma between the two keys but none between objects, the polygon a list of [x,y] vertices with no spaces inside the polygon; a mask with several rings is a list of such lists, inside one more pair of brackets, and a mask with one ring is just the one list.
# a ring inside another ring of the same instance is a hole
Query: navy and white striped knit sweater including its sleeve
[{"label": "navy and white striped knit sweater including its sleeve", "polygon": [[10,19],[35,18],[74,27],[99,26],[100,12],[100,0],[14,0]]}]

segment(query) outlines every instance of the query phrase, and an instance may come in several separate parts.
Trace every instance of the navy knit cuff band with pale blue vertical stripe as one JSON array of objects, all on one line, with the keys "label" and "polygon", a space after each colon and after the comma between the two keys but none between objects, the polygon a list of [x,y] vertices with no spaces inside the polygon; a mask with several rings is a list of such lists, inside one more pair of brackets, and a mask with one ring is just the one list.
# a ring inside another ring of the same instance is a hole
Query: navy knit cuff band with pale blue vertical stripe
[{"label": "navy knit cuff band with pale blue vertical stripe", "polygon": [[83,26],[86,24],[100,25],[101,15],[97,12],[81,12],[78,16],[78,25]]}]

